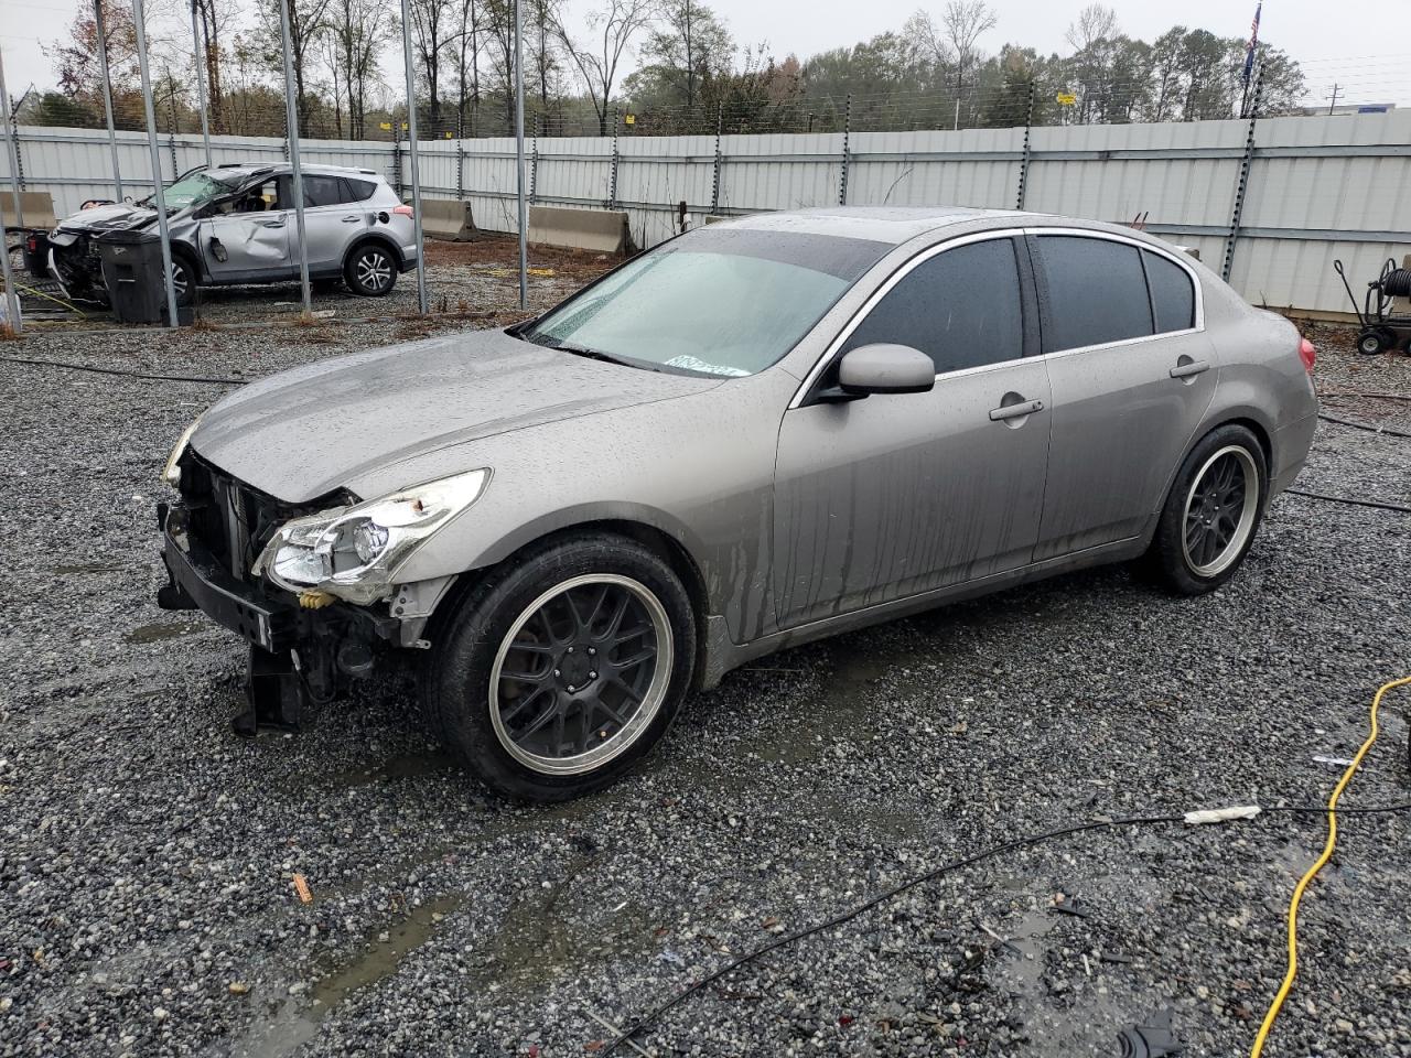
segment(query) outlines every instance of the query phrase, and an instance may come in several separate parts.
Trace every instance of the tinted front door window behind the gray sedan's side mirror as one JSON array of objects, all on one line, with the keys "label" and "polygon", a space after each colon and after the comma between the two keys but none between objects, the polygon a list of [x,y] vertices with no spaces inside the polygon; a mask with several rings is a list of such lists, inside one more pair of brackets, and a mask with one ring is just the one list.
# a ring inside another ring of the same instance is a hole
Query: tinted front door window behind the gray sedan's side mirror
[{"label": "tinted front door window behind the gray sedan's side mirror", "polygon": [[938,375],[1023,357],[1015,241],[971,243],[919,264],[873,306],[842,351],[873,343],[919,348]]}]

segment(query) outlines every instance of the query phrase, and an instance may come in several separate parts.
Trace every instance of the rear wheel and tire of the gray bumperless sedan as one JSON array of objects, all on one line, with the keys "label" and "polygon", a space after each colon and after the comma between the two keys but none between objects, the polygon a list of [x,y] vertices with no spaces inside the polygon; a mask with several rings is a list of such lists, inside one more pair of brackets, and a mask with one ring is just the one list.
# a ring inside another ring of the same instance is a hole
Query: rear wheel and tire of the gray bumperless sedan
[{"label": "rear wheel and tire of the gray bumperless sedan", "polygon": [[1175,475],[1146,554],[1147,568],[1180,595],[1215,591],[1249,554],[1267,497],[1268,470],[1259,439],[1236,423],[1211,430]]}]

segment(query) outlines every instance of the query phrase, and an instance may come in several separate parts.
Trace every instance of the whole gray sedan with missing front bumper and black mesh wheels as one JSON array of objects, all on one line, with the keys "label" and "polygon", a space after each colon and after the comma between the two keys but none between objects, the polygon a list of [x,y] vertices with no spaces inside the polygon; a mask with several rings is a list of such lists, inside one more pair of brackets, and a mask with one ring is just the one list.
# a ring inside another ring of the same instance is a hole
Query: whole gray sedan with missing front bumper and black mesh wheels
[{"label": "whole gray sedan with missing front bumper and black mesh wheels", "polygon": [[275,718],[425,647],[476,773],[571,797],[785,646],[1130,559],[1213,590],[1307,457],[1312,357],[1116,226],[749,217],[231,394],[175,456],[165,602],[253,643]]}]

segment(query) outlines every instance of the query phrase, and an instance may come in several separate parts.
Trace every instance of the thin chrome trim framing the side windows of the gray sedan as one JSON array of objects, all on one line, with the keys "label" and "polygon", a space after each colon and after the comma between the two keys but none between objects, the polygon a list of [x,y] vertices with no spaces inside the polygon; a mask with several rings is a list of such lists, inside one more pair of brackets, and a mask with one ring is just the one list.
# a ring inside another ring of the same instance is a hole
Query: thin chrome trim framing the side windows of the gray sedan
[{"label": "thin chrome trim framing the side windows of the gray sedan", "polygon": [[[828,347],[823,351],[823,355],[818,357],[818,361],[813,365],[809,374],[804,375],[803,382],[799,385],[799,389],[794,391],[793,398],[789,401],[787,411],[794,411],[803,403],[803,398],[809,394],[813,385],[818,381],[818,377],[828,368],[832,360],[838,355],[838,350],[842,348],[842,346],[847,343],[849,337],[852,337],[852,332],[855,332],[862,324],[862,320],[865,320],[871,315],[871,312],[878,306],[878,303],[883,298],[886,298],[888,293],[892,292],[892,288],[896,286],[899,282],[902,282],[902,279],[904,279],[907,275],[910,275],[913,269],[926,264],[933,257],[944,254],[947,250],[958,250],[959,247],[964,245],[974,245],[975,243],[986,243],[993,238],[1016,238],[1024,236],[1036,236],[1036,237],[1077,236],[1081,238],[1102,238],[1109,243],[1132,245],[1136,247],[1137,250],[1147,250],[1153,254],[1164,257],[1165,260],[1174,262],[1178,268],[1184,269],[1187,278],[1191,281],[1191,286],[1195,291],[1195,326],[1185,327],[1182,330],[1163,330],[1157,334],[1140,334],[1134,339],[1119,339],[1116,341],[1103,341],[1096,346],[1055,348],[1051,353],[1040,353],[1033,357],[1016,357],[1015,360],[1000,360],[993,364],[979,364],[976,367],[964,367],[955,371],[943,371],[935,375],[937,382],[940,382],[943,378],[959,378],[965,375],[976,375],[985,371],[993,371],[1003,367],[1013,367],[1015,364],[1048,360],[1050,357],[1067,357],[1075,353],[1094,353],[1108,348],[1119,348],[1122,346],[1139,346],[1147,341],[1156,341],[1157,339],[1173,339],[1173,337],[1180,337],[1182,334],[1199,334],[1201,332],[1205,330],[1205,289],[1201,285],[1199,275],[1189,265],[1189,262],[1181,260],[1182,255],[1180,254],[1180,251],[1173,253],[1165,250],[1164,247],[1151,245],[1150,243],[1146,243],[1139,238],[1129,238],[1116,231],[1096,231],[1094,229],[1085,229],[1085,227],[1006,227],[1006,229],[993,229],[991,231],[974,231],[968,236],[959,236],[957,238],[951,238],[944,243],[926,247],[926,250],[921,250],[919,254],[904,261],[895,272],[892,272],[892,275],[889,275],[886,281],[883,281],[883,284],[878,286],[878,289],[875,289],[865,302],[862,302],[861,308],[858,308],[858,310],[852,313],[852,317],[842,326],[842,330],[840,330],[834,336],[834,339],[828,343]],[[1036,264],[1034,268],[1037,269],[1038,265]],[[1143,272],[1143,282],[1147,282],[1144,272]],[[1154,319],[1151,323],[1153,326],[1156,326]]]}]

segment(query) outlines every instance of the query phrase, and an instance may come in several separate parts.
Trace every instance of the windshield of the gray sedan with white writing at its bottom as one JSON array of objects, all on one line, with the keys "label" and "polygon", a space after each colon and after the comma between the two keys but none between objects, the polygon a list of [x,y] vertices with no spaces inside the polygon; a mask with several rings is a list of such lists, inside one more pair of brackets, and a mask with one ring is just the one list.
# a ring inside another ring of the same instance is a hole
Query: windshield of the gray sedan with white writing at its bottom
[{"label": "windshield of the gray sedan with white writing at its bottom", "polygon": [[653,370],[752,375],[783,357],[890,244],[707,227],[643,254],[521,333]]}]

